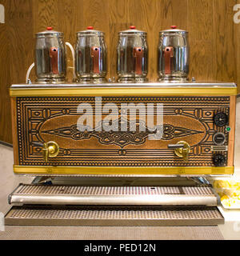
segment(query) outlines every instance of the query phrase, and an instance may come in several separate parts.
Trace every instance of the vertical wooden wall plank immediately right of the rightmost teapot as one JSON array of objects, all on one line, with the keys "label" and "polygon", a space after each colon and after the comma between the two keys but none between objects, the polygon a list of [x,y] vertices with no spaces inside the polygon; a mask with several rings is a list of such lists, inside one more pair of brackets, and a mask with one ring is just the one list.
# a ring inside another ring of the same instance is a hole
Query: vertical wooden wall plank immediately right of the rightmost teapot
[{"label": "vertical wooden wall plank immediately right of the rightmost teapot", "polygon": [[[196,10],[198,13],[196,14]],[[213,1],[188,1],[188,24],[190,42],[190,78],[214,81],[214,17]],[[207,68],[206,68],[207,67]]]}]

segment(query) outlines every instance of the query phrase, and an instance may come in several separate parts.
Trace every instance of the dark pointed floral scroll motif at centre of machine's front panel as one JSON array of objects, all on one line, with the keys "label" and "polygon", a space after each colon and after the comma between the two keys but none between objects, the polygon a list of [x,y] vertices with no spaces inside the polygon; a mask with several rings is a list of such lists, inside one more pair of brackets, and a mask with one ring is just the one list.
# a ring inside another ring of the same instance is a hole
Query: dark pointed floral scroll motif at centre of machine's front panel
[{"label": "dark pointed floral scroll motif at centre of machine's front panel", "polygon": [[[105,127],[105,121],[102,121],[100,125],[101,127]],[[122,122],[126,122],[125,125],[127,127],[126,131],[119,131],[118,127],[121,127]],[[80,131],[78,130],[77,125],[60,127],[54,130],[45,130],[42,133],[45,134],[54,134],[65,138],[71,138],[74,140],[82,140],[82,139],[90,139],[92,137],[98,138],[98,142],[104,145],[118,145],[124,147],[129,144],[141,145],[146,142],[146,138],[150,134],[156,134],[156,130],[149,130],[145,126],[145,122],[139,121],[131,122],[129,120],[115,120],[112,124],[113,129],[110,131],[100,130],[99,126],[90,130]],[[134,130],[134,126],[136,125],[136,129]],[[114,131],[116,130],[116,131]],[[198,130],[190,130],[183,127],[176,127],[170,124],[164,124],[163,127],[158,127],[157,130],[162,130],[162,138],[161,140],[171,140],[173,138],[181,138],[192,134],[201,134],[202,131]]]}]

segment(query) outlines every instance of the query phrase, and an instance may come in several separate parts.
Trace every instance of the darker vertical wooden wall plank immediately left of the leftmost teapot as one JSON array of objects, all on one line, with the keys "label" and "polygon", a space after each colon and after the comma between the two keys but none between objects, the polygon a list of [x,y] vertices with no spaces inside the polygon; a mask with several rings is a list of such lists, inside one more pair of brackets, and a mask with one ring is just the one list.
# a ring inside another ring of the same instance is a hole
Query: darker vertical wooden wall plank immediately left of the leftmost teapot
[{"label": "darker vertical wooden wall plank immediately left of the leftmost teapot", "polygon": [[[34,62],[33,2],[10,1],[6,25],[9,39],[10,84],[25,82],[26,70]],[[9,85],[10,86],[10,85]]]}]

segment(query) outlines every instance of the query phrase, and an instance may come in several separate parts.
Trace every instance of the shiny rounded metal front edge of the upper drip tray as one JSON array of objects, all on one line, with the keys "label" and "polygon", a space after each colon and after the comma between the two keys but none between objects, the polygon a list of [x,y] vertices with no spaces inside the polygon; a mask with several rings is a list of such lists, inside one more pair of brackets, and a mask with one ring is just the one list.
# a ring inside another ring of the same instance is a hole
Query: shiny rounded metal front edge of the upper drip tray
[{"label": "shiny rounded metal front edge of the upper drip tray", "polygon": [[12,194],[10,203],[88,206],[217,206],[214,195],[37,195]]}]

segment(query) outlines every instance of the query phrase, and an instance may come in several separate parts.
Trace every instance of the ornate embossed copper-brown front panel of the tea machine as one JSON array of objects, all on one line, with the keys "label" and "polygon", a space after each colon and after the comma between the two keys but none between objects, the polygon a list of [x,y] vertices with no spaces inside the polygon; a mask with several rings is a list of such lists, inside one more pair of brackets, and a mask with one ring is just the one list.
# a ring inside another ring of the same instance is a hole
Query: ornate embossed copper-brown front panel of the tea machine
[{"label": "ornate embossed copper-brown front panel of the tea machine", "polygon": [[[112,102],[121,109],[121,103],[163,104],[163,135],[160,140],[149,140],[153,131],[146,129],[141,118],[137,130],[130,131],[131,120],[116,118],[114,126],[126,122],[127,131],[81,132],[77,122],[80,103],[89,103],[95,110],[94,97],[17,97],[18,164],[20,166],[214,166],[211,146],[213,135],[226,127],[214,125],[214,114],[230,115],[230,97],[102,97],[102,106]],[[152,114],[156,115],[155,112]],[[102,114],[102,118],[105,116]],[[103,119],[102,119],[103,120]],[[179,141],[190,144],[189,161],[184,162],[168,149]],[[36,142],[54,141],[60,151],[57,157],[44,162],[41,146]],[[228,158],[228,152],[222,152]],[[224,166],[227,166],[227,160]]]}]

